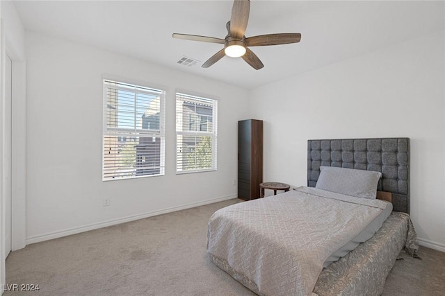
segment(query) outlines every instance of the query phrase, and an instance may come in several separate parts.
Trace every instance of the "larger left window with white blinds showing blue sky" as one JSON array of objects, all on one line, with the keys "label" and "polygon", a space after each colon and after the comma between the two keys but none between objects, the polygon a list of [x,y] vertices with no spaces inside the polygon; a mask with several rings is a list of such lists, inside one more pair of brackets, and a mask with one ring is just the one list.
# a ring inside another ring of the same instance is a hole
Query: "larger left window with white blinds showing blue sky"
[{"label": "larger left window with white blinds showing blue sky", "polygon": [[165,92],[104,80],[102,180],[164,174]]}]

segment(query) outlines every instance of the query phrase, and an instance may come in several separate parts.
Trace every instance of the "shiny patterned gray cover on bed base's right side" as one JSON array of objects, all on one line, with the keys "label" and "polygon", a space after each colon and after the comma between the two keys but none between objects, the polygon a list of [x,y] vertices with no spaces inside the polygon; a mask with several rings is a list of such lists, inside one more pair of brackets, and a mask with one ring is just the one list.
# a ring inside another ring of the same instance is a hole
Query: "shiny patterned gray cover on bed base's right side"
[{"label": "shiny patterned gray cover on bed base's right side", "polygon": [[410,216],[393,212],[366,243],[323,269],[314,293],[327,295],[381,295],[385,279],[398,254],[414,256],[419,249]]}]

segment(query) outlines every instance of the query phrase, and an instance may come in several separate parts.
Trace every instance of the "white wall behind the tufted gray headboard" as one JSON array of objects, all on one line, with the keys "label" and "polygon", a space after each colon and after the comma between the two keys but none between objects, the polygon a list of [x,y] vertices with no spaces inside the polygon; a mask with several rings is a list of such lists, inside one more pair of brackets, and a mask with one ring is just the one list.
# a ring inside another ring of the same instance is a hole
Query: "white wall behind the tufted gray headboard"
[{"label": "white wall behind the tufted gray headboard", "polygon": [[410,137],[412,220],[445,252],[444,50],[440,31],[252,90],[264,180],[306,185],[308,139]]}]

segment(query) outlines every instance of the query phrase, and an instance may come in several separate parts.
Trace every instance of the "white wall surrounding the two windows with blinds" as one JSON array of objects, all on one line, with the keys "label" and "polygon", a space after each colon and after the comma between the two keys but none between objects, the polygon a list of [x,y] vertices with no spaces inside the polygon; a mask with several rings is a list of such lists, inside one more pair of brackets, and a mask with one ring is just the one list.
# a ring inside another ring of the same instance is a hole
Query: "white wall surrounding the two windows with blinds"
[{"label": "white wall surrounding the two windows with blinds", "polygon": [[[27,243],[236,198],[246,90],[34,33],[26,59]],[[165,176],[102,182],[103,74],[166,88]],[[218,171],[175,174],[176,88],[219,98]]]}]

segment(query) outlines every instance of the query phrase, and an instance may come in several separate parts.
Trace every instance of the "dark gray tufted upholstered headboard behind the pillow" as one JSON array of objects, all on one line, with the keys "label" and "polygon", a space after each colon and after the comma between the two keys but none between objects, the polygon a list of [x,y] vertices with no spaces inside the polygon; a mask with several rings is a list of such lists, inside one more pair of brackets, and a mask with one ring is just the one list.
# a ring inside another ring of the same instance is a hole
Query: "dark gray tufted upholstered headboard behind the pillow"
[{"label": "dark gray tufted upholstered headboard behind the pillow", "polygon": [[409,138],[308,140],[307,186],[315,186],[320,166],[382,172],[377,190],[392,193],[394,211],[410,213]]}]

